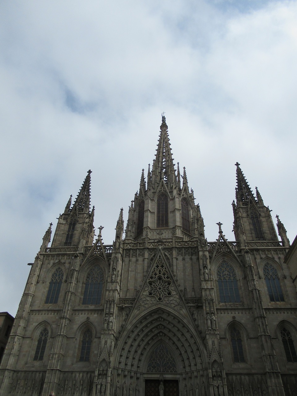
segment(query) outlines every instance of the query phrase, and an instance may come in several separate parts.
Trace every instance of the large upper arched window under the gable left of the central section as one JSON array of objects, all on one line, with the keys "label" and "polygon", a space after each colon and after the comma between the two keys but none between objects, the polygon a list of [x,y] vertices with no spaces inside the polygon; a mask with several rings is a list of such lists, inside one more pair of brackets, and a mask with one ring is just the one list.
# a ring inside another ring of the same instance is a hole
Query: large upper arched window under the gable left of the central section
[{"label": "large upper arched window under the gable left of the central section", "polygon": [[95,265],[89,271],[86,278],[86,286],[83,304],[96,305],[101,303],[101,294],[103,288],[103,272],[99,265]]}]

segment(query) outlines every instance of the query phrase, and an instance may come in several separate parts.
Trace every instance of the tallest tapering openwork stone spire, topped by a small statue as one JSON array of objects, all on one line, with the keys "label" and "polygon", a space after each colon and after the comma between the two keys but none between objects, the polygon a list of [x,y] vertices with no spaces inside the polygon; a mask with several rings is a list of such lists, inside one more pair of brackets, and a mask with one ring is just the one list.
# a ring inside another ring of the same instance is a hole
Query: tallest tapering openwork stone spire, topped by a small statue
[{"label": "tallest tapering openwork stone spire, topped by a small statue", "polygon": [[158,148],[156,149],[156,159],[152,166],[152,183],[159,183],[161,180],[164,180],[165,183],[176,183],[175,169],[168,136],[168,126],[164,113],[162,114],[160,131]]}]

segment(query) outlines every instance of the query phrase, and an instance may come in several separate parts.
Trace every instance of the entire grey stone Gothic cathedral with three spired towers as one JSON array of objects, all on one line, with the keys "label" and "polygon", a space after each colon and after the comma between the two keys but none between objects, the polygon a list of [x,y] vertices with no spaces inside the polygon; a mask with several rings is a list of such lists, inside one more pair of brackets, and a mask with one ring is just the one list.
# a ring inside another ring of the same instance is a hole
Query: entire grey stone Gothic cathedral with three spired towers
[{"label": "entire grey stone Gothic cathedral with three spired towers", "polygon": [[[208,242],[162,117],[124,233],[94,242],[91,171],[32,263],[0,395],[297,395],[289,240],[236,164],[235,241]],[[124,236],[123,236],[124,235]]]}]

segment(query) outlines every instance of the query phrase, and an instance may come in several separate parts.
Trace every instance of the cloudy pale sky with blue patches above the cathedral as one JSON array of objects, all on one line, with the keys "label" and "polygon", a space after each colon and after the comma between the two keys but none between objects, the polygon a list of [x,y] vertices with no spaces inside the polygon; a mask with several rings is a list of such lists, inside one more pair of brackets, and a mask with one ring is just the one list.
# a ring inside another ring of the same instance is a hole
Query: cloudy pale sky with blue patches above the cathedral
[{"label": "cloudy pale sky with blue patches above the cathedral", "polygon": [[0,311],[15,316],[50,222],[91,169],[95,228],[112,244],[164,111],[208,241],[241,164],[291,242],[296,220],[297,2],[0,3]]}]

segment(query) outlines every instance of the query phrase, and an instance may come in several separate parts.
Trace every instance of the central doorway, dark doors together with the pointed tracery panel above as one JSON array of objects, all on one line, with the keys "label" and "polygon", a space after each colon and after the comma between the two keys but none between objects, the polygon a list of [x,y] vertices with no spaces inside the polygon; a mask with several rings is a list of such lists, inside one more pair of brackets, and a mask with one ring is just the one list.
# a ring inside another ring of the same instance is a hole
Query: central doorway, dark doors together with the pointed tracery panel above
[{"label": "central doorway, dark doors together with the pointed tracery panel above", "polygon": [[145,396],[179,396],[176,363],[168,347],[162,342],[150,353],[147,375],[155,378],[145,379]]}]

